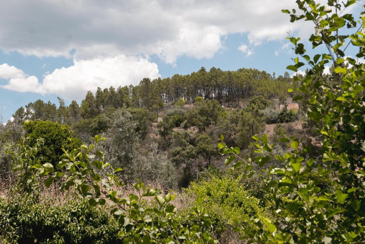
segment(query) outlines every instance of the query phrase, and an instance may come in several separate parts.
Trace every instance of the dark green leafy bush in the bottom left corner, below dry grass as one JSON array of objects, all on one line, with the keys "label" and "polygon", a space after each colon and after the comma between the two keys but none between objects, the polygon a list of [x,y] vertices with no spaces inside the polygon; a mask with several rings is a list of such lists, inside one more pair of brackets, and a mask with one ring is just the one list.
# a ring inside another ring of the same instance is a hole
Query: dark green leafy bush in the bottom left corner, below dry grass
[{"label": "dark green leafy bush in the bottom left corner, below dry grass", "polygon": [[55,205],[51,198],[37,203],[27,194],[0,199],[0,235],[5,243],[115,243],[118,232],[118,223],[106,209],[81,197],[63,205]]}]

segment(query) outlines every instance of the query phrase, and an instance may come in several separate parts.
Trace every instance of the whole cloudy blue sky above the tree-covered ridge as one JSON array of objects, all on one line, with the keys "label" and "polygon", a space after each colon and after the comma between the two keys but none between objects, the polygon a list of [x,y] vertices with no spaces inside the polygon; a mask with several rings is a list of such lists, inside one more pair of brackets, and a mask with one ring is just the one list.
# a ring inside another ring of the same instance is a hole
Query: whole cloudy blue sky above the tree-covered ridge
[{"label": "whole cloudy blue sky above the tree-covered ridge", "polygon": [[[346,12],[358,14],[361,4]],[[296,57],[288,32],[308,39],[314,31],[310,22],[291,23],[281,13],[295,8],[295,0],[12,0],[1,5],[4,121],[39,98],[57,106],[57,97],[66,104],[81,102],[98,86],[137,85],[144,77],[189,74],[202,66],[284,74]]]}]

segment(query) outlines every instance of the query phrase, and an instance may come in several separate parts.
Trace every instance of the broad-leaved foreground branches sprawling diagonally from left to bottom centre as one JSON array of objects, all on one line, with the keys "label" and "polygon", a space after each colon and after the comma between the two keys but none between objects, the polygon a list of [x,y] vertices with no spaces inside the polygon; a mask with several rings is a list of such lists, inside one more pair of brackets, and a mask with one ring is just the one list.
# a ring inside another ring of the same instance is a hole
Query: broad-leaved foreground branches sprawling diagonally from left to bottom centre
[{"label": "broad-leaved foreground branches sprawling diagonally from left to bottom centre", "polygon": [[[95,136],[95,142],[105,140],[100,136]],[[36,145],[38,146],[38,145]],[[66,180],[61,183],[61,191],[75,188],[77,192],[85,198],[91,206],[105,205],[106,201],[113,203],[111,214],[117,220],[120,231],[119,236],[122,237],[124,243],[170,243],[173,240],[184,240],[187,243],[216,243],[209,234],[211,222],[206,214],[206,209],[200,206],[200,200],[197,200],[197,205],[191,208],[191,215],[188,217],[192,220],[189,226],[178,224],[180,217],[176,215],[176,208],[170,203],[174,199],[174,195],[169,193],[162,195],[158,189],[150,189],[139,181],[133,184],[139,195],[130,194],[128,197],[123,197],[122,193],[115,187],[122,186],[123,183],[118,179],[117,172],[121,168],[113,168],[110,163],[104,162],[104,154],[95,151],[95,144],[90,146],[82,145],[82,152],[77,153],[76,149],[66,151],[65,156],[59,162],[60,167],[65,167],[68,170]],[[30,155],[24,158],[24,162],[29,162],[29,158],[38,162],[37,147],[24,148],[24,153],[21,155]],[[79,161],[86,155],[89,160]],[[17,165],[19,160],[15,160]],[[29,167],[27,167],[29,168]],[[31,168],[31,167],[30,167]],[[32,168],[31,168],[32,169]],[[35,167],[31,177],[40,178],[44,175],[51,175],[45,180],[46,186],[54,181],[55,178],[62,176],[62,173],[53,172],[53,167],[43,165]],[[108,173],[101,175],[98,172],[104,169]],[[22,171],[19,171],[19,176]],[[24,177],[23,177],[24,178]],[[30,184],[30,191],[39,188],[39,182],[29,182],[24,178],[27,184]],[[29,183],[28,183],[29,182]],[[31,191],[32,192],[32,191]],[[147,201],[153,200],[151,201]],[[154,217],[155,218],[152,218]],[[199,222],[198,222],[199,221]]]}]

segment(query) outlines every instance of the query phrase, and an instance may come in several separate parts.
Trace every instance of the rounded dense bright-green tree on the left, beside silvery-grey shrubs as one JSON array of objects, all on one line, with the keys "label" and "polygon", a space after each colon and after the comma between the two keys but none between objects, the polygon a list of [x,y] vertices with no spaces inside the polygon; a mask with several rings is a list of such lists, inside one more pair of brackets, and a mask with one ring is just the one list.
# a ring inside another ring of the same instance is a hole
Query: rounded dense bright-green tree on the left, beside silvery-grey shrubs
[{"label": "rounded dense bright-green tree on the left, beside silvery-grey shrubs", "polygon": [[25,121],[23,124],[28,144],[33,145],[39,138],[43,138],[43,145],[39,150],[41,163],[50,163],[59,170],[58,162],[62,158],[62,147],[66,150],[81,146],[81,140],[74,138],[67,125],[51,121]]}]

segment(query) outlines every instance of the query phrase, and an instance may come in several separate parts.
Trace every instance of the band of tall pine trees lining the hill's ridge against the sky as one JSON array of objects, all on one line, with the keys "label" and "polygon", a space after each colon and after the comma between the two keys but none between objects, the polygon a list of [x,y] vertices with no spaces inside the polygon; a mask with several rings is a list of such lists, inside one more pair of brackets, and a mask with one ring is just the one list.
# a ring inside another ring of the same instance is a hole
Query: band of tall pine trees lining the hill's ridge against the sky
[{"label": "band of tall pine trees lining the hill's ridge against the sky", "polygon": [[25,108],[19,108],[14,119],[41,119],[72,124],[81,119],[91,119],[105,112],[108,108],[146,108],[156,111],[164,105],[177,102],[180,98],[188,104],[195,102],[196,97],[218,100],[220,102],[238,102],[239,99],[255,95],[266,98],[278,97],[284,101],[288,96],[287,89],[293,80],[288,72],[276,77],[266,71],[257,69],[238,69],[222,71],[204,67],[187,75],[175,74],[168,78],[150,80],[143,78],[137,86],[119,86],[98,88],[96,93],[88,92],[81,105],[72,101],[69,106],[59,98],[59,107],[51,102],[37,100]]}]

